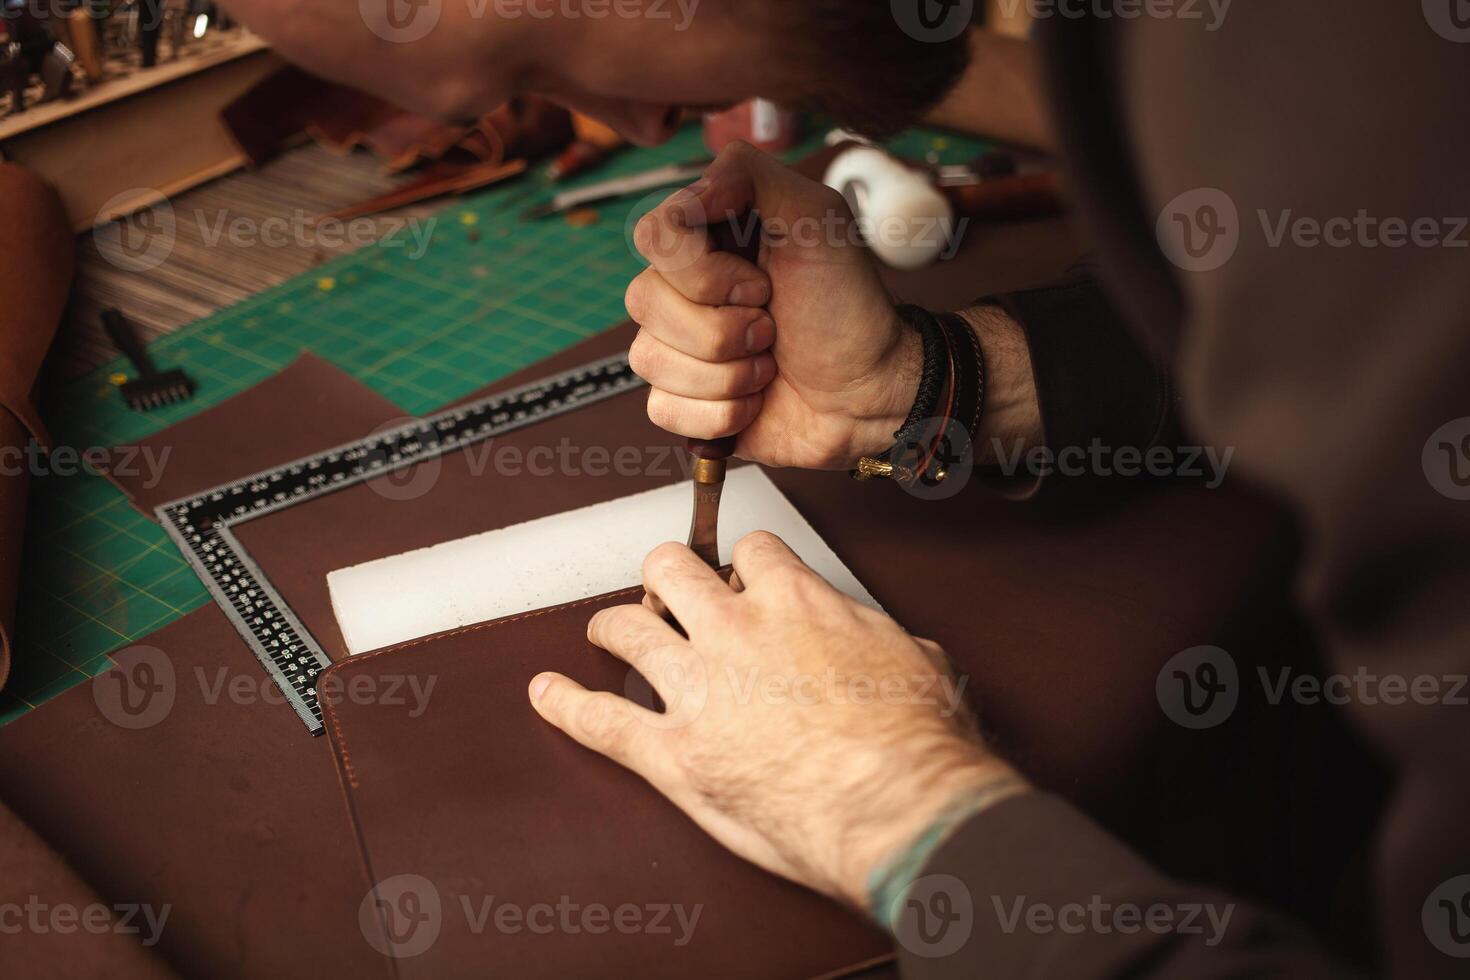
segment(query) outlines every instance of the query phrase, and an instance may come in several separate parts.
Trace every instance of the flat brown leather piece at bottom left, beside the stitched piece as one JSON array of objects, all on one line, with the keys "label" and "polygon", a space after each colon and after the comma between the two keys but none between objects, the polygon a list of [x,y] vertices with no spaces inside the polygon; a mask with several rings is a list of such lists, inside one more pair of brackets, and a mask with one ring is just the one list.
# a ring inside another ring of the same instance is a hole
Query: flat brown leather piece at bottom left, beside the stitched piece
[{"label": "flat brown leather piece at bottom left, beside the stitched piece", "polygon": [[382,976],[328,746],[223,613],[115,658],[0,729],[0,798],[109,902],[171,905],[181,976]]}]

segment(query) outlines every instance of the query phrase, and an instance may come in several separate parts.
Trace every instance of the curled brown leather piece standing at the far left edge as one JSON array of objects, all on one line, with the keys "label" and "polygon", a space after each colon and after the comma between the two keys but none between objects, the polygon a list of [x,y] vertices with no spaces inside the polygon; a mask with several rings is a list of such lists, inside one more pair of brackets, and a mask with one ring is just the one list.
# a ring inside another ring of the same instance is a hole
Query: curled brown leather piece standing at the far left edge
[{"label": "curled brown leather piece standing at the far left edge", "polygon": [[21,574],[21,539],[34,436],[47,442],[35,411],[35,382],[72,285],[72,235],[56,192],[31,172],[0,163],[0,688],[10,676],[10,633]]}]

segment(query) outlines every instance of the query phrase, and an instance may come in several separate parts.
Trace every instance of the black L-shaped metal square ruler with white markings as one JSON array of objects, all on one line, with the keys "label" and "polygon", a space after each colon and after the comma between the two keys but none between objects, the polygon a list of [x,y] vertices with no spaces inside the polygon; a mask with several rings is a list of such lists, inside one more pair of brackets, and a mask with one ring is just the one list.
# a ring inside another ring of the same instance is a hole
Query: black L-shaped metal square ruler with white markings
[{"label": "black L-shaped metal square ruler with white markings", "polygon": [[232,529],[642,383],[619,354],[171,501],[156,514],[307,730],[320,735],[316,677],[332,661]]}]

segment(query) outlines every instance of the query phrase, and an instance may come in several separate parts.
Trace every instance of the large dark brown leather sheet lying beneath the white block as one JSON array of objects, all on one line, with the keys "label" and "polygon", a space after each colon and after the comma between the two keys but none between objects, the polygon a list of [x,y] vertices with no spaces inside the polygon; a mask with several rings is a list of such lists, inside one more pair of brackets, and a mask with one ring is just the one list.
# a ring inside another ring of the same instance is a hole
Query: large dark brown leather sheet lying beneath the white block
[{"label": "large dark brown leather sheet lying beneath the white block", "polygon": [[[600,335],[495,386],[587,363],[631,335],[629,326]],[[679,454],[662,451],[675,441],[647,422],[642,401],[632,392],[501,436],[490,461],[484,447],[454,454],[397,489],[350,488],[238,526],[237,536],[340,658],[328,572],[682,479]],[[525,460],[538,447],[569,447],[576,464],[632,447],[647,467],[497,472],[495,458]],[[1301,655],[1280,605],[1294,538],[1273,507],[1229,486],[1175,485],[1058,516],[978,486],[917,501],[841,473],[770,476],[900,621],[972,674],[995,743],[1032,777],[1182,874],[1273,877],[1286,840],[1244,790],[1276,792],[1289,779],[1285,761],[1251,761],[1289,713],[1276,710],[1248,736],[1225,726],[1180,738],[1154,701],[1158,669],[1189,646],[1247,645],[1263,663]],[[1201,849],[1198,833],[1227,843]]]}]

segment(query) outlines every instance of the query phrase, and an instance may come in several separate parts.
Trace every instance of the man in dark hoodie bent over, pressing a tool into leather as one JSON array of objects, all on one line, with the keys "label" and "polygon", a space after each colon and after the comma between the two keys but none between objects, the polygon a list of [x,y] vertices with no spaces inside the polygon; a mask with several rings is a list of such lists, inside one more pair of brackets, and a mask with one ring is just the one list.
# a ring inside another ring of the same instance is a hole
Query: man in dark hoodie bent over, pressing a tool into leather
[{"label": "man in dark hoodie bent over, pressing a tool into leather", "polygon": [[[975,444],[982,461],[992,436],[1148,447],[1185,422],[1236,447],[1236,467],[1294,507],[1310,548],[1301,599],[1333,670],[1444,685],[1407,702],[1385,686],[1348,711],[1396,771],[1374,855],[1382,967],[1451,976],[1470,955],[1470,713],[1451,693],[1470,673],[1470,128],[1457,98],[1470,25],[1449,0],[1349,6],[1038,9],[1057,129],[1108,285],[1082,273],[964,311],[986,376]],[[234,7],[288,54],[440,112],[537,90],[644,141],[667,134],[675,101],[754,94],[883,131],[963,63],[963,41],[941,38],[932,16],[906,34],[903,3],[710,0],[684,34],[578,21],[575,3],[538,21],[445,4],[445,19],[463,18],[454,29],[404,44],[373,40],[382,24],[363,31],[344,0]],[[375,84],[381,62],[397,68],[392,85]],[[710,250],[703,222],[745,209],[785,226],[842,213],[832,192],[736,147],[639,225],[651,267],[628,306],[650,416],[682,435],[738,432],[739,454],[763,463],[851,467],[892,442],[914,403],[919,341],[841,242],[778,238],[759,266]],[[629,702],[551,674],[531,683],[537,710],[735,852],[889,927],[911,909],[913,883],[942,876],[1053,909],[1089,896],[1229,901],[1160,876],[920,698],[738,698],[729,664],[766,676],[945,667],[936,646],[767,535],[741,541],[734,564],[742,591],[682,547],[648,557],[645,585],[686,639],[644,607],[588,624],[656,688],[697,682],[686,724],[645,724]],[[978,914],[961,949],[901,958],[914,977],[1342,973],[1245,902],[1222,930],[1192,933],[1007,930]]]}]

